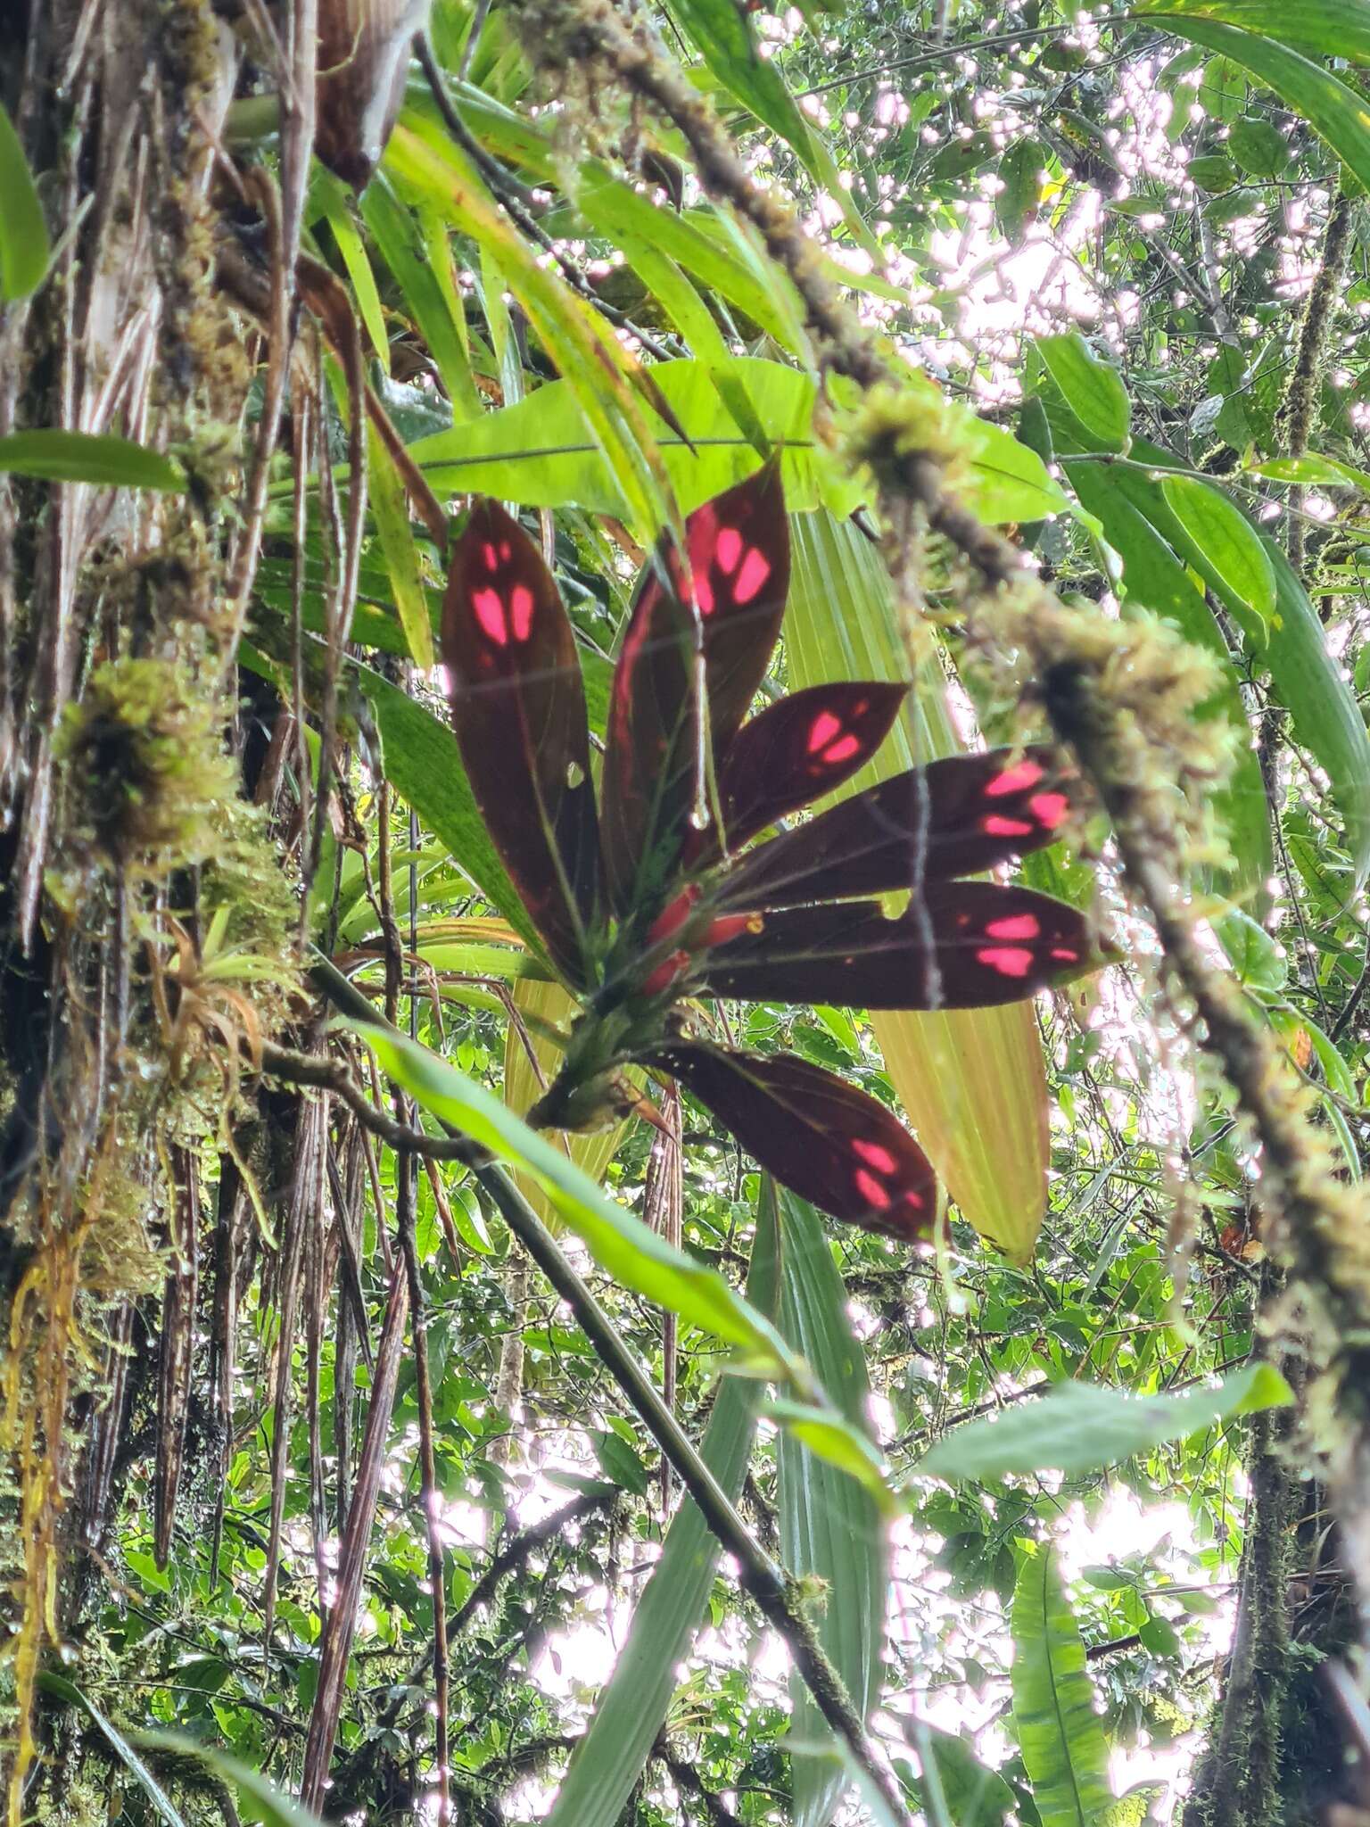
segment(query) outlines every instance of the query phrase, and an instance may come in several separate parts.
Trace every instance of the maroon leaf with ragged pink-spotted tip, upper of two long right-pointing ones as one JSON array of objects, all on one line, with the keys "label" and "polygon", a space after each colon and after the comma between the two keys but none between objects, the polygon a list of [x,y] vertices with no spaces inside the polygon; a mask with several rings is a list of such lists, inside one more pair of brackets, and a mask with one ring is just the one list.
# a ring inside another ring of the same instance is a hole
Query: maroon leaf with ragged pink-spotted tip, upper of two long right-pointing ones
[{"label": "maroon leaf with ragged pink-spotted tip, upper of two long right-pointing ones", "polygon": [[1054,842],[1070,787],[1049,749],[912,767],[760,844],[727,877],[720,904],[795,906],[975,875]]}]

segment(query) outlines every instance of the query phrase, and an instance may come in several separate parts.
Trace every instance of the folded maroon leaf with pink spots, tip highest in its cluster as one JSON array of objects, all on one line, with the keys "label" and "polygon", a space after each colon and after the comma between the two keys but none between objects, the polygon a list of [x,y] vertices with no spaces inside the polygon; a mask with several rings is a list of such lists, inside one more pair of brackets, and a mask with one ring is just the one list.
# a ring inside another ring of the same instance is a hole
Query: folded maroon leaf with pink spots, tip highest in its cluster
[{"label": "folded maroon leaf with pink spots, tip highest in its cluster", "polygon": [[718,758],[765,678],[789,590],[789,524],[778,466],[705,502],[685,523],[692,608],[680,554],[658,548],[623,639],[608,707],[605,875],[619,915],[650,906],[674,875],[701,797],[698,656]]}]

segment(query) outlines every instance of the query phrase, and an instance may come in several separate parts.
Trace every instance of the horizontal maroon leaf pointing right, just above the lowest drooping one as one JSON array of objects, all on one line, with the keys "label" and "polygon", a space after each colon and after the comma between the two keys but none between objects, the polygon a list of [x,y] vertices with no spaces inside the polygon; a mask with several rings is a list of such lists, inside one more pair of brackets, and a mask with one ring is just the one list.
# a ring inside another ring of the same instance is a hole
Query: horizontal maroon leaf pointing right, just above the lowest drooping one
[{"label": "horizontal maroon leaf pointing right, just above the lowest drooping one", "polygon": [[1098,965],[1083,917],[1050,895],[932,882],[899,919],[879,901],[765,914],[709,956],[703,987],[765,1003],[983,1009]]}]

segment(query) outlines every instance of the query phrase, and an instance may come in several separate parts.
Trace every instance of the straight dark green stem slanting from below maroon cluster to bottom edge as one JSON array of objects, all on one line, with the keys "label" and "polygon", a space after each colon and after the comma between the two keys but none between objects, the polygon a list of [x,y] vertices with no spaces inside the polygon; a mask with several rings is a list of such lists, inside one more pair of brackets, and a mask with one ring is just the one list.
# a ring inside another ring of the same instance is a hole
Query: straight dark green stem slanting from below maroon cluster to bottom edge
[{"label": "straight dark green stem slanting from below maroon cluster to bottom edge", "polygon": [[[382,1019],[376,1009],[327,959],[312,963],[311,977],[329,1001],[351,1019],[380,1027],[398,1036],[398,1029]],[[446,1127],[446,1125],[444,1125]],[[784,1641],[804,1684],[824,1716],[824,1721],[846,1745],[851,1761],[879,1790],[897,1822],[912,1827],[891,1772],[875,1756],[842,1677],[827,1659],[817,1632],[804,1615],[796,1580],[776,1562],[747,1529],[723,1487],[694,1449],[685,1429],[661,1399],[650,1376],[619,1336],[614,1321],[595,1301],[577,1270],[566,1261],[561,1244],[543,1224],[504,1167],[495,1162],[475,1164],[475,1178],[499,1206],[501,1217],[552,1283],[555,1294],[575,1315],[595,1356],[623,1390],[656,1440],[663,1458],[681,1485],[694,1498],[700,1515],[725,1553],[738,1564],[742,1589],[756,1604],[767,1624]]]}]

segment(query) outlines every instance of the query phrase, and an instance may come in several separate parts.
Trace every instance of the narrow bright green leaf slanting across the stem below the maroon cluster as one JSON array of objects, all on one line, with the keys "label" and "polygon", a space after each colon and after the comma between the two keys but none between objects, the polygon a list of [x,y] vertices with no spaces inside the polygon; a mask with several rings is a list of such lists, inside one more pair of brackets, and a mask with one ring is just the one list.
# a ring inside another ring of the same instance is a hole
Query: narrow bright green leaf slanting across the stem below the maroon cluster
[{"label": "narrow bright green leaf slanting across the stem below the maroon cluster", "polygon": [[621,1286],[680,1314],[690,1326],[740,1346],[760,1376],[787,1381],[796,1359],[769,1321],[753,1312],[727,1281],[616,1204],[546,1136],[427,1047],[389,1030],[358,1029],[380,1065],[438,1122],[532,1175],[566,1230],[586,1244],[599,1268]]}]

